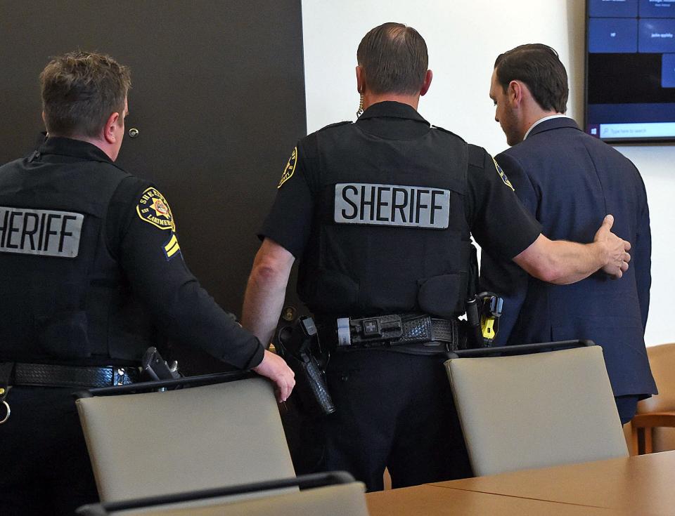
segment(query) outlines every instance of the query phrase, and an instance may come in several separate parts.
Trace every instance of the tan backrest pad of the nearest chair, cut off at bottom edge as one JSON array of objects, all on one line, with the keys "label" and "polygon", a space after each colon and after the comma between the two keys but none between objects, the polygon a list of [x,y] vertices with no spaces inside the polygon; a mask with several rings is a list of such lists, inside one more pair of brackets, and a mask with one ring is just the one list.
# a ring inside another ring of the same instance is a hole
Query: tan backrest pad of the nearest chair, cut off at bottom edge
[{"label": "tan backrest pad of the nearest chair, cut off at bottom edge", "polygon": [[216,498],[114,512],[82,512],[115,516],[368,516],[364,484],[351,482],[294,493],[266,494],[252,499]]}]

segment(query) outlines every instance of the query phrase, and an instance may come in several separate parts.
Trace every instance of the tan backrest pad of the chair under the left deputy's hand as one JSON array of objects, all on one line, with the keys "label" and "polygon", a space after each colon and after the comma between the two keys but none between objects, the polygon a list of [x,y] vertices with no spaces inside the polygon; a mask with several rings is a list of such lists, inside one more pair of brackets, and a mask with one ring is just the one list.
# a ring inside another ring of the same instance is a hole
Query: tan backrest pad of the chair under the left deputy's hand
[{"label": "tan backrest pad of the chair under the left deputy's hand", "polygon": [[76,404],[101,501],[295,476],[263,378]]}]

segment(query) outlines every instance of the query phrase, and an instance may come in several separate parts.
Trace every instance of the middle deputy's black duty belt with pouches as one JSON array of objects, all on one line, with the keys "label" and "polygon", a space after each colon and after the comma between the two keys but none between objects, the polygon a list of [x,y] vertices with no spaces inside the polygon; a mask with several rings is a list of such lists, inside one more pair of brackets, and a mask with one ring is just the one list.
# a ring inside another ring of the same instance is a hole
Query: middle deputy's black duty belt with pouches
[{"label": "middle deputy's black duty belt with pouches", "polygon": [[459,348],[459,322],[425,314],[338,319],[338,350],[430,342],[445,343],[452,350]]}]

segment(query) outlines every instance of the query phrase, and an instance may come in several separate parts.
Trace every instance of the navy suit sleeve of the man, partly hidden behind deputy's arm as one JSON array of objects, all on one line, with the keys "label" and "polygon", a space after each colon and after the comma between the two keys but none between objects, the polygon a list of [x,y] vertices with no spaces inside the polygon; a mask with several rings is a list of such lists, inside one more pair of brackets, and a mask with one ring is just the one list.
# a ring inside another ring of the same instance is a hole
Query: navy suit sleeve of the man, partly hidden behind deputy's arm
[{"label": "navy suit sleeve of the man, partly hidden behind deputy's arm", "polygon": [[[532,183],[522,166],[508,154],[499,154],[496,158],[502,173],[513,186],[515,194],[533,215],[537,211],[538,200]],[[484,291],[499,294],[503,298],[502,315],[499,318],[499,332],[494,345],[506,345],[513,327],[518,321],[525,297],[529,275],[511,260],[491,256],[484,250],[480,259],[480,287]]]}]

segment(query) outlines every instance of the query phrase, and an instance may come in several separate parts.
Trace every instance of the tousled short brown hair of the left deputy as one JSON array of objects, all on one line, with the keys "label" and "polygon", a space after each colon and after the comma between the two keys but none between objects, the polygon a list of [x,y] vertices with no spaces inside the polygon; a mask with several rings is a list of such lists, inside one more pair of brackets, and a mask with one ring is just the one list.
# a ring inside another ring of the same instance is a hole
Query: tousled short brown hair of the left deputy
[{"label": "tousled short brown hair of the left deputy", "polygon": [[108,55],[77,51],[53,58],[40,84],[51,135],[96,137],[110,114],[124,118],[131,72]]}]

